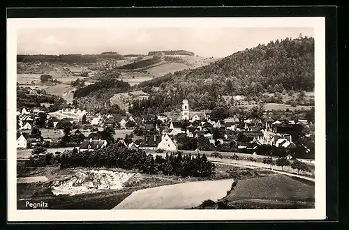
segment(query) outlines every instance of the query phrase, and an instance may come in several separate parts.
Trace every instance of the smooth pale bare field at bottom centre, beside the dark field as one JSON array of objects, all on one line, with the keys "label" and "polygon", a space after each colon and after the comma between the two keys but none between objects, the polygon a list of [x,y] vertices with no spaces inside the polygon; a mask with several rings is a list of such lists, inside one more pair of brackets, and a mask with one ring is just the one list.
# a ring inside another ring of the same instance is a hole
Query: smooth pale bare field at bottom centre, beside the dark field
[{"label": "smooth pale bare field at bottom centre, beside the dark field", "polygon": [[225,197],[233,179],[165,185],[133,192],[113,209],[184,209]]}]

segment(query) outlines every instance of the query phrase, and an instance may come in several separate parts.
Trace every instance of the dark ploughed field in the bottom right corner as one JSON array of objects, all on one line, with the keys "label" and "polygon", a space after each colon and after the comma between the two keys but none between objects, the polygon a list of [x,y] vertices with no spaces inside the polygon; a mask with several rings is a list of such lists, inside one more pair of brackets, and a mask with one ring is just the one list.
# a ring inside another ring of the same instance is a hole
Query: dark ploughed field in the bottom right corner
[{"label": "dark ploughed field in the bottom right corner", "polygon": [[195,209],[293,209],[315,208],[311,181],[282,174],[237,181],[218,202],[202,202]]}]

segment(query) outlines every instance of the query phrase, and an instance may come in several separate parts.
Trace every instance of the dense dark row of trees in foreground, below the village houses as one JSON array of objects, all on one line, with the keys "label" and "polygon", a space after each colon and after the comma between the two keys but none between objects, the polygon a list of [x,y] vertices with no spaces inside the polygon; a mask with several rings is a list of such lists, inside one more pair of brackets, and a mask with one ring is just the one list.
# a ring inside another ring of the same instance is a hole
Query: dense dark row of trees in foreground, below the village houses
[{"label": "dense dark row of trees in foreground, below the village houses", "polygon": [[214,164],[205,155],[181,155],[181,153],[155,157],[142,150],[131,150],[125,146],[112,144],[93,152],[65,152],[61,155],[61,168],[66,167],[108,167],[138,169],[144,174],[206,177],[214,174]]}]

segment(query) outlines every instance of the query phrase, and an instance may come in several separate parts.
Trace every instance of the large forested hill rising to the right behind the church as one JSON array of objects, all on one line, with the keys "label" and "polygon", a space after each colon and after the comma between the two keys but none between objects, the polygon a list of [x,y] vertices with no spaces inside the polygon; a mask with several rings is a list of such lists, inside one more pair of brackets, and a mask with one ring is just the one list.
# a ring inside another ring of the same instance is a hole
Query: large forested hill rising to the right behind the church
[{"label": "large forested hill rising to the right behind the church", "polygon": [[251,95],[292,90],[313,91],[314,39],[296,38],[272,41],[236,52],[219,61],[193,70],[174,72],[142,82],[168,92],[173,88],[194,100],[203,92],[218,95]]}]

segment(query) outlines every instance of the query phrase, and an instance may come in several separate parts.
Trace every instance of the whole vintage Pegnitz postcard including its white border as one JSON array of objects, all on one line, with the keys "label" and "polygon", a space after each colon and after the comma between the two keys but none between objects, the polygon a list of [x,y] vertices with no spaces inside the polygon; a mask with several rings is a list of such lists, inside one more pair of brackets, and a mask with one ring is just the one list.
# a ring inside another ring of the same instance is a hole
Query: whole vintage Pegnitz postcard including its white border
[{"label": "whole vintage Pegnitz postcard including its white border", "polygon": [[325,17],[8,19],[8,220],[325,219]]}]

